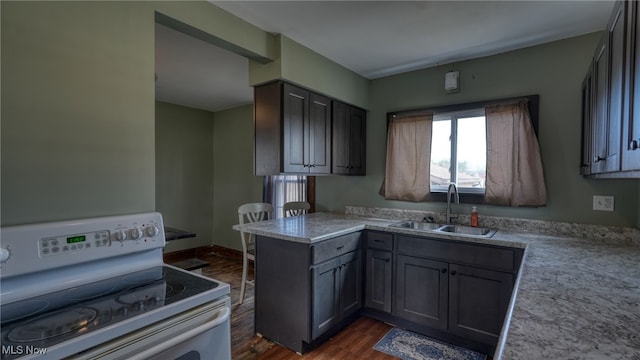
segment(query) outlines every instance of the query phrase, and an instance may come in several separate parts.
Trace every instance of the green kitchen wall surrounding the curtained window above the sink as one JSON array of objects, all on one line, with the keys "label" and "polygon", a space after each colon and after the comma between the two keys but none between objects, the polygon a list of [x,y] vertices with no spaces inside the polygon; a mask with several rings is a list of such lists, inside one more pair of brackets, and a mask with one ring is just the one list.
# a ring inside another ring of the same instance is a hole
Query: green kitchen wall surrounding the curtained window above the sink
[{"label": "green kitchen wall surrounding the curtained window above the sink", "polygon": [[[403,73],[371,81],[367,118],[367,176],[319,177],[317,207],[342,211],[345,205],[442,211],[443,203],[386,201],[378,190],[384,175],[386,113],[518,95],[540,95],[539,140],[548,206],[480,206],[480,216],[496,215],[595,224],[638,224],[637,180],[588,180],[579,175],[581,84],[600,33],[495,56]],[[444,74],[460,71],[460,92],[444,91]],[[615,211],[592,211],[592,195],[614,195]],[[470,206],[461,210],[470,212]]]}]

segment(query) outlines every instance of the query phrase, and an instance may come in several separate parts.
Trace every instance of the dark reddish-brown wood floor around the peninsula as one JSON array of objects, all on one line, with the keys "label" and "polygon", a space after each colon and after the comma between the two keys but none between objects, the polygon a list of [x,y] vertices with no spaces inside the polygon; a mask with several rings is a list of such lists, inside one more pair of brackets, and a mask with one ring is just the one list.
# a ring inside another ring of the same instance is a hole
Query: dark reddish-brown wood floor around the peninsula
[{"label": "dark reddish-brown wood floor around the peninsula", "polygon": [[[231,285],[231,352],[233,360],[269,359],[396,359],[393,356],[373,350],[373,346],[387,333],[390,325],[361,317],[331,340],[317,349],[300,356],[271,341],[254,335],[253,328],[253,286],[247,287],[242,305],[240,280],[242,261],[228,256],[210,254],[200,257],[209,261],[210,266],[202,269],[202,274]],[[251,271],[250,271],[251,273]]]}]

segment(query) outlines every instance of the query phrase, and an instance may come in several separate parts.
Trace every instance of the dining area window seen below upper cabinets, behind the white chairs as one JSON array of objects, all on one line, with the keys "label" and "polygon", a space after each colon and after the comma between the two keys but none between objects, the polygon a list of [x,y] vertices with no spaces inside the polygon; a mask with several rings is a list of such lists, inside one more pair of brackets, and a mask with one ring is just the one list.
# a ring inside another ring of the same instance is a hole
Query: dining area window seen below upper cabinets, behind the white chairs
[{"label": "dining area window seen below upper cabinets, behind the white chairs", "polygon": [[289,201],[307,201],[307,177],[304,175],[265,176],[263,201],[273,205],[274,218],[284,217],[282,207]]}]

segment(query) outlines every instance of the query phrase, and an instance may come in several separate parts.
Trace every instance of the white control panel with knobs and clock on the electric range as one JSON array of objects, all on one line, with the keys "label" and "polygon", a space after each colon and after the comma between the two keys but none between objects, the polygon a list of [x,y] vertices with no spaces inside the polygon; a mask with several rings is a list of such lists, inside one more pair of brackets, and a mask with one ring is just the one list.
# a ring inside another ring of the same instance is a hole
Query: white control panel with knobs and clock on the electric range
[{"label": "white control panel with knobs and clock on the electric range", "polygon": [[0,277],[127,256],[165,245],[162,215],[141,213],[3,227]]}]

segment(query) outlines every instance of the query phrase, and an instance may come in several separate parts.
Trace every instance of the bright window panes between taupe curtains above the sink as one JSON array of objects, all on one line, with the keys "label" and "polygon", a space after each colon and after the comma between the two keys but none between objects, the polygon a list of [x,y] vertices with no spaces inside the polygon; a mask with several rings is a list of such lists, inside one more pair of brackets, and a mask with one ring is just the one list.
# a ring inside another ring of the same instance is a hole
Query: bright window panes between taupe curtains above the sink
[{"label": "bright window panes between taupe curtains above the sink", "polygon": [[431,192],[449,183],[461,193],[484,194],[487,168],[484,109],[434,114],[431,138]]}]

